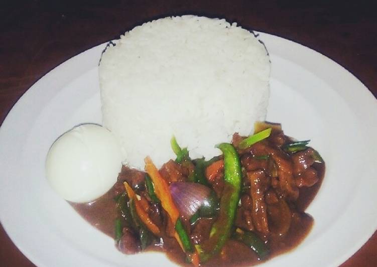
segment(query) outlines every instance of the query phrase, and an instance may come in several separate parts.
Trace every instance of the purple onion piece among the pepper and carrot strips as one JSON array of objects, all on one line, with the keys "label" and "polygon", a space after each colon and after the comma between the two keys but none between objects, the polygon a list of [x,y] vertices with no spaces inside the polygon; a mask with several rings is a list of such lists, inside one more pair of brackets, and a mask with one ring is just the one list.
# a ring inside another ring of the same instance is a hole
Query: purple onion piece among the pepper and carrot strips
[{"label": "purple onion piece among the pepper and carrot strips", "polygon": [[189,182],[173,182],[169,189],[180,214],[185,218],[191,218],[211,193],[208,187]]}]

